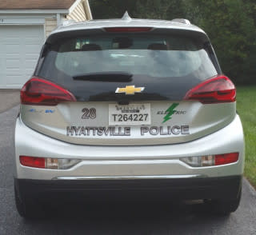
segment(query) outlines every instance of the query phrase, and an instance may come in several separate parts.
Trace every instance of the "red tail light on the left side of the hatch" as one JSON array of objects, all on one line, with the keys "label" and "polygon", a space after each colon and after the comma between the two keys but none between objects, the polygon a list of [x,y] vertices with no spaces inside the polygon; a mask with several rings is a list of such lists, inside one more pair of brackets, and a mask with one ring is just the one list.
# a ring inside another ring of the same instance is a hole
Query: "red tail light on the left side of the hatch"
[{"label": "red tail light on the left side of the hatch", "polygon": [[23,105],[57,106],[59,102],[75,101],[70,91],[42,78],[31,78],[21,90]]}]

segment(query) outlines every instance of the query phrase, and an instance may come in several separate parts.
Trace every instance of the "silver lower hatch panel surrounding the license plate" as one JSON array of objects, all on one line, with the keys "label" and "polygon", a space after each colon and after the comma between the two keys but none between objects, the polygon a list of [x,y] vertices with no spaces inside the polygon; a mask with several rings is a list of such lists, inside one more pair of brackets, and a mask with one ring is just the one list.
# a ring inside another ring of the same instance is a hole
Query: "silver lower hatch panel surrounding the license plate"
[{"label": "silver lower hatch panel surrounding the license plate", "polygon": [[[66,102],[52,107],[22,105],[21,118],[40,133],[78,145],[161,145],[193,141],[223,128],[235,117],[235,102],[211,105],[193,101],[139,103],[150,104],[150,125],[109,125],[109,105],[118,106],[115,102]],[[166,110],[173,104],[178,105],[174,114],[165,119],[169,114]],[[82,119],[85,108],[95,109],[96,118]],[[184,132],[183,127],[186,127]],[[98,128],[104,128],[105,133],[99,133]],[[125,128],[130,130],[126,135]],[[107,129],[111,129],[109,133]]]}]

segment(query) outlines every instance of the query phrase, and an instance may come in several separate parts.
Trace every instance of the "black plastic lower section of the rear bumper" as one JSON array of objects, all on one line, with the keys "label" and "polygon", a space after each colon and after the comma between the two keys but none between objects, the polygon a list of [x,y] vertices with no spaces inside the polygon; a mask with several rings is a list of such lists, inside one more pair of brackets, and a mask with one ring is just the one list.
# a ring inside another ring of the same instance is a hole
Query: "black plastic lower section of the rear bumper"
[{"label": "black plastic lower section of the rear bumper", "polygon": [[198,177],[190,179],[148,180],[27,180],[15,179],[21,198],[78,199],[231,199],[238,196],[242,176]]}]

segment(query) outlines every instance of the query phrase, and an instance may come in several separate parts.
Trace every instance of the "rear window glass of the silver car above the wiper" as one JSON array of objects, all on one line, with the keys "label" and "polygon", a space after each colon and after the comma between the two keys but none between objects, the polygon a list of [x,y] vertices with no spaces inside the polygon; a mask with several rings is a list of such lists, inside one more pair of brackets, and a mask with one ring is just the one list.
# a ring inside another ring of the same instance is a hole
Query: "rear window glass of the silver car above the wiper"
[{"label": "rear window glass of the silver car above the wiper", "polygon": [[125,72],[152,78],[210,78],[217,73],[194,38],[177,35],[101,34],[70,38],[51,46],[39,70],[50,80],[83,74]]}]

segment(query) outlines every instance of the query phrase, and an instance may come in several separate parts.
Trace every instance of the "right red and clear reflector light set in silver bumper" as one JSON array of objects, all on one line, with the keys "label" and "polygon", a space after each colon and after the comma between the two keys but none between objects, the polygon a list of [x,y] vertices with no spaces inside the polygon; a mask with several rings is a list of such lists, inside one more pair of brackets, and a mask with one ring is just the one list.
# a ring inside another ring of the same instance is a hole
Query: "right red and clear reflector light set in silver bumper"
[{"label": "right red and clear reflector light set in silver bumper", "polygon": [[180,157],[179,160],[193,167],[226,165],[238,161],[239,153],[224,153],[202,157]]}]

